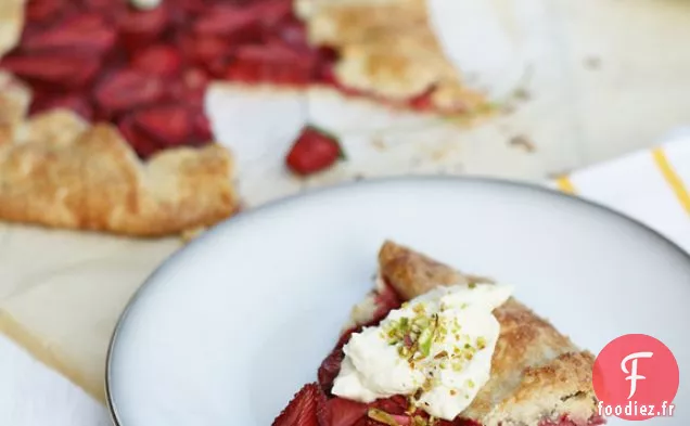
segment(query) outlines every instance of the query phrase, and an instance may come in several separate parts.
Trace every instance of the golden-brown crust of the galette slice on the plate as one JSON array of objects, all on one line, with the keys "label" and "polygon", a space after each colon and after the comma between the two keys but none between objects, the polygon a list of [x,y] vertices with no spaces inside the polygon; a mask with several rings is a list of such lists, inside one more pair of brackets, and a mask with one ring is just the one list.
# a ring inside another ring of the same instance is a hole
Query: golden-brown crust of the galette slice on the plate
[{"label": "golden-brown crust of the galette slice on the plate", "polygon": [[[386,242],[380,271],[406,299],[437,285],[469,281],[452,268]],[[515,299],[495,310],[501,325],[491,378],[461,414],[485,426],[536,425],[567,415],[578,424],[597,414],[593,357]]]}]

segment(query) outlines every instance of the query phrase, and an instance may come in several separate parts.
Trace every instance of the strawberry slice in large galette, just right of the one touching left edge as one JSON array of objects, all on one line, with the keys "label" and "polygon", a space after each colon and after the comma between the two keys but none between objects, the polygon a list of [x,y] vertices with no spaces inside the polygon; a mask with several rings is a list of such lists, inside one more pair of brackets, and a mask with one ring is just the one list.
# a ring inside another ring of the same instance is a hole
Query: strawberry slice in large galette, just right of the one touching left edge
[{"label": "strawberry slice in large galette, just right of the one touching left edge", "polygon": [[119,112],[145,106],[165,94],[163,82],[152,76],[127,69],[103,78],[95,87],[95,101],[105,111]]}]

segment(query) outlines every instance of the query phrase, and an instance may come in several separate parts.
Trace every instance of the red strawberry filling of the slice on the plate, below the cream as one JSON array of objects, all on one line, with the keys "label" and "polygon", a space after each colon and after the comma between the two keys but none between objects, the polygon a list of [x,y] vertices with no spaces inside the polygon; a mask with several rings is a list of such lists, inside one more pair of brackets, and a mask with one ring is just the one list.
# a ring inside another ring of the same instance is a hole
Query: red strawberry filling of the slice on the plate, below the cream
[{"label": "red strawberry filling of the slice on the plate, below the cream", "polygon": [[[340,373],[343,361],[343,346],[353,333],[366,326],[378,325],[391,310],[401,305],[400,297],[391,285],[376,292],[376,314],[367,323],[343,333],[331,353],[323,360],[318,371],[318,384],[305,385],[288,408],[276,418],[272,426],[482,426],[468,418],[452,422],[434,419],[420,409],[410,409],[407,397],[394,396],[371,403],[350,401],[331,395],[333,380]],[[557,422],[542,421],[538,426],[600,426],[605,424],[601,416],[592,416],[588,422],[575,422],[567,416]]]}]

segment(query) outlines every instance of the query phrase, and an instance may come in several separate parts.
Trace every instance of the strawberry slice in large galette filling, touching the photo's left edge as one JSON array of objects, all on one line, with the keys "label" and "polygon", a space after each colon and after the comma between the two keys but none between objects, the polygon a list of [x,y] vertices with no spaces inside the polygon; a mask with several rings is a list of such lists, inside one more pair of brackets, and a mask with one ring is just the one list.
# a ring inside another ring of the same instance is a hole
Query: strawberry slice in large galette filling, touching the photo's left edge
[{"label": "strawberry slice in large galette filling, touching the photo's left edge", "polygon": [[89,83],[99,70],[100,61],[92,55],[43,53],[7,56],[0,66],[28,80],[73,88]]}]

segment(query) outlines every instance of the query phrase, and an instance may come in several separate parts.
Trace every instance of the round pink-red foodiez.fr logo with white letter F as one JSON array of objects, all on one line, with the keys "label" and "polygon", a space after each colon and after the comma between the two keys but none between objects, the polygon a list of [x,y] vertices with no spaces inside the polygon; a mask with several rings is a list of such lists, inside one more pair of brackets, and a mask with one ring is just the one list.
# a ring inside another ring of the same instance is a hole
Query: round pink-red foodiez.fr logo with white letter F
[{"label": "round pink-red foodiez.fr logo with white letter F", "polygon": [[628,421],[674,415],[679,380],[670,349],[644,334],[611,341],[597,357],[592,372],[599,414]]}]

